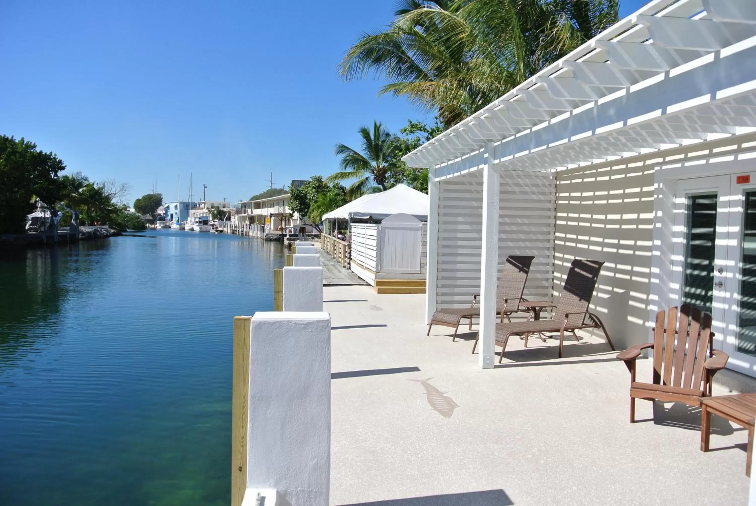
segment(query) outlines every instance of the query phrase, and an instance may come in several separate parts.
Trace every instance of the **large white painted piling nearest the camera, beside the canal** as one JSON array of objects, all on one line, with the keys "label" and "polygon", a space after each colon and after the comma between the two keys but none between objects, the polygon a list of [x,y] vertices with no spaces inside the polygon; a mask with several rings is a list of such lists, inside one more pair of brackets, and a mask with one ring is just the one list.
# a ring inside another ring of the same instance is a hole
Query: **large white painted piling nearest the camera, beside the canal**
[{"label": "large white painted piling nearest the camera, beside the canal", "polygon": [[330,328],[327,312],[252,318],[245,506],[258,494],[265,506],[328,506]]}]

